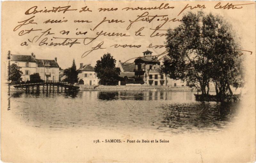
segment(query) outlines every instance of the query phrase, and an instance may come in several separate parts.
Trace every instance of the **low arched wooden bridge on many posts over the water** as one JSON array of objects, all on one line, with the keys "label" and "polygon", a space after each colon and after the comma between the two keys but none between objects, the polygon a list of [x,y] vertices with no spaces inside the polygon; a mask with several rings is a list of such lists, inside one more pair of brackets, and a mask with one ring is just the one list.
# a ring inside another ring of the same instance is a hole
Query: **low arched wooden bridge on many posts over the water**
[{"label": "low arched wooden bridge on many posts over the water", "polygon": [[59,89],[61,89],[61,92],[64,88],[64,91],[73,91],[78,90],[79,86],[78,84],[70,84],[63,81],[55,81],[55,80],[45,80],[42,82],[35,82],[35,83],[24,83],[24,84],[15,84],[13,85],[14,88],[26,88],[26,93],[30,91],[30,87],[32,87],[32,92],[34,92],[34,87],[36,87],[36,91],[40,91],[40,86],[43,86],[43,93],[46,89],[46,92],[48,90],[51,92],[54,92],[54,88],[57,87],[57,92],[59,92]]}]

